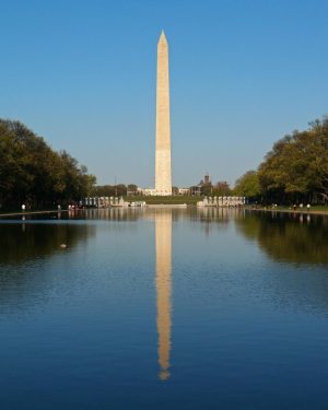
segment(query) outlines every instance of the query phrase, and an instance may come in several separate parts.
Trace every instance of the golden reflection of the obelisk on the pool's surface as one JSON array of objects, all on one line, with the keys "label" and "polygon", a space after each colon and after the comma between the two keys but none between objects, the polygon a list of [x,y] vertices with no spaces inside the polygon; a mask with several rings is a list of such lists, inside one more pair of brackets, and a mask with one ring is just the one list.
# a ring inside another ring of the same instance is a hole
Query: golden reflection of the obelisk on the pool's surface
[{"label": "golden reflection of the obelisk on the pool's surface", "polygon": [[156,292],[160,379],[169,377],[171,293],[172,293],[172,211],[155,212]]}]

